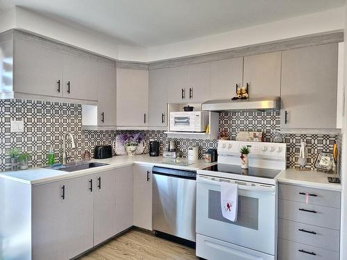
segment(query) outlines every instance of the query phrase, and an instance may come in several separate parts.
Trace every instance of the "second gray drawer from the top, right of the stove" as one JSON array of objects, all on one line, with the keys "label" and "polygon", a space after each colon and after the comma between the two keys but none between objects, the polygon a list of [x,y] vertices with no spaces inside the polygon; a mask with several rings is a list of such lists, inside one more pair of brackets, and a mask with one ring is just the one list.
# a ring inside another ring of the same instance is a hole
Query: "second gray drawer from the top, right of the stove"
[{"label": "second gray drawer from the top, right of the stove", "polygon": [[291,200],[278,200],[278,218],[319,227],[340,229],[340,209],[306,205]]}]

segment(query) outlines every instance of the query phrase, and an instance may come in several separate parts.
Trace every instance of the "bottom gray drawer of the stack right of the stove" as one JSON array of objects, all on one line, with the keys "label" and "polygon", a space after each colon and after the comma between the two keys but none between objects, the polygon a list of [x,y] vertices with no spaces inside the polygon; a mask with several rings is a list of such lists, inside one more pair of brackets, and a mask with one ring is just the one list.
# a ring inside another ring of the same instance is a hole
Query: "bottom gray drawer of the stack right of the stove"
[{"label": "bottom gray drawer of the stack right of the stove", "polygon": [[278,260],[339,260],[339,253],[278,239]]}]

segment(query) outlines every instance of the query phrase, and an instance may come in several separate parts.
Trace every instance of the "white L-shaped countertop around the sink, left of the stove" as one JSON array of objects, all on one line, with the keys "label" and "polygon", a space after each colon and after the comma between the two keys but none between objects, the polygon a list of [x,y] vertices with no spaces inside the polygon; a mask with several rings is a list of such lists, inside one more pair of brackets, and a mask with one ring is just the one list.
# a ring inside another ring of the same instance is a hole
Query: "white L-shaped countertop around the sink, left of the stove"
[{"label": "white L-shaped countertop around the sink, left of the stove", "polygon": [[[149,155],[117,155],[109,159],[92,159],[92,162],[100,162],[103,164],[108,164],[105,166],[100,166],[96,168],[88,168],[81,171],[74,171],[68,173],[65,171],[58,171],[49,168],[30,168],[25,171],[6,171],[0,173],[0,177],[15,180],[17,182],[23,182],[26,184],[42,184],[44,182],[53,182],[56,180],[63,180],[71,177],[78,177],[81,175],[88,175],[92,173],[97,173],[99,171],[107,171],[114,168],[121,168],[124,166],[130,166],[133,164],[143,164],[151,166],[161,166],[166,168],[178,168],[188,171],[197,171],[201,168],[208,167],[214,163],[205,163],[203,160],[198,160],[195,162],[190,162],[188,166],[172,165],[165,164],[164,162],[169,161],[170,159],[159,157],[150,157]],[[171,159],[172,160],[172,159]]]}]

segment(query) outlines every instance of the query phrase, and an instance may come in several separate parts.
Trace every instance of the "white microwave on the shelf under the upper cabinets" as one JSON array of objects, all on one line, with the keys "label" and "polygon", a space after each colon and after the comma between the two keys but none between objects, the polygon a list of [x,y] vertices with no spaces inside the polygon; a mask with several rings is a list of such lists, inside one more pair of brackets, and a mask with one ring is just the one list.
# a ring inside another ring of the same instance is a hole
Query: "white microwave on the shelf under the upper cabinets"
[{"label": "white microwave on the shelf under the upper cabinets", "polygon": [[208,111],[170,112],[170,131],[205,132],[208,125]]}]

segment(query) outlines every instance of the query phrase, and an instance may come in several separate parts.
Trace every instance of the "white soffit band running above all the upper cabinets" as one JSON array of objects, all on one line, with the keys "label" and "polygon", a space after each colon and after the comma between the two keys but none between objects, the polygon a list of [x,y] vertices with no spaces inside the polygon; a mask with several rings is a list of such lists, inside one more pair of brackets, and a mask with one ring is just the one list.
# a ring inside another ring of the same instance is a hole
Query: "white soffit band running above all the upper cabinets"
[{"label": "white soffit band running above all the upper cabinets", "polygon": [[15,8],[0,16],[0,31],[21,28],[52,39],[66,42],[81,49],[119,60],[150,62],[211,51],[221,51],[239,46],[270,42],[344,28],[344,8],[276,21],[185,42],[177,42],[148,49],[124,46],[107,37],[90,31],[81,31],[69,24],[37,15],[23,8]]}]

